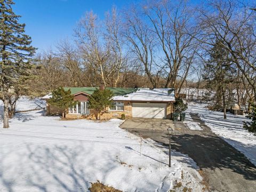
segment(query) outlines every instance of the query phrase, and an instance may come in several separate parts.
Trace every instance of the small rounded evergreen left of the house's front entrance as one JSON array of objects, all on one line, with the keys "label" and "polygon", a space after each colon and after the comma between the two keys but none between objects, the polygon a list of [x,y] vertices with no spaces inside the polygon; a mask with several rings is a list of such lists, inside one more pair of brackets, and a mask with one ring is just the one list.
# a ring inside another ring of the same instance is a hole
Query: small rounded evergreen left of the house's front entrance
[{"label": "small rounded evergreen left of the house's front entrance", "polygon": [[75,105],[74,95],[71,94],[70,89],[65,91],[63,87],[59,87],[57,90],[52,92],[52,98],[49,102],[62,110],[62,117],[64,118],[66,118],[66,109]]}]

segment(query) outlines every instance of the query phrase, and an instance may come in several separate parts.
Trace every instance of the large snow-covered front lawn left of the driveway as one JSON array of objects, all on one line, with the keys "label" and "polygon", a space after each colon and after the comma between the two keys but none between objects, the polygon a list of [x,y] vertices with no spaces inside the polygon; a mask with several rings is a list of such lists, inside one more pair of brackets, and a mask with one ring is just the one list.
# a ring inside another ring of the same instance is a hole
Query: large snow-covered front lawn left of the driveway
[{"label": "large snow-covered front lawn left of the driveway", "polygon": [[[26,98],[17,106],[35,107]],[[169,168],[162,148],[120,129],[119,119],[60,121],[42,114],[19,113],[10,129],[0,120],[0,191],[88,191],[97,180],[123,191],[169,191],[177,182],[176,191],[202,191],[191,158],[173,151]]]}]

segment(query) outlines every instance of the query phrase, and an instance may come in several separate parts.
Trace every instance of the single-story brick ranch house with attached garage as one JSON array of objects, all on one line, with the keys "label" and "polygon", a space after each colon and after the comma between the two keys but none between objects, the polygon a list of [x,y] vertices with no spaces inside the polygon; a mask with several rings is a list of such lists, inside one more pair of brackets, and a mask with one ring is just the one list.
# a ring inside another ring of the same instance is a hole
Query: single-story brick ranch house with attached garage
[{"label": "single-story brick ranch house with attached garage", "polygon": [[[91,116],[93,109],[89,109],[88,96],[97,87],[64,87],[65,90],[74,94],[76,106],[69,108],[66,117],[79,118],[81,116]],[[166,118],[171,119],[173,112],[173,102],[175,102],[174,89],[148,89],[148,88],[106,88],[114,93],[113,107],[107,109],[102,118],[121,117],[141,117],[141,118]],[[42,99],[46,100],[46,114],[58,115],[62,111],[50,105],[48,100],[51,93]]]}]

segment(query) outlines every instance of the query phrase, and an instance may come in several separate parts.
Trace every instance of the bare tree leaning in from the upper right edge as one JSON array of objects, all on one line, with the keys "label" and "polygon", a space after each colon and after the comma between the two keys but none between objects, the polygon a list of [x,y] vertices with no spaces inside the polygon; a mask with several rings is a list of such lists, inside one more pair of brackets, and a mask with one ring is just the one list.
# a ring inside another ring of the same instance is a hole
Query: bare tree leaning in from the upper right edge
[{"label": "bare tree leaning in from the upper right edge", "polygon": [[[199,24],[201,38],[198,38],[206,49],[214,46],[218,39],[223,49],[231,55],[241,72],[243,84],[250,100],[256,100],[256,36],[255,11],[250,10],[249,4],[237,1],[209,1],[201,7]],[[252,92],[251,92],[252,91]]]}]

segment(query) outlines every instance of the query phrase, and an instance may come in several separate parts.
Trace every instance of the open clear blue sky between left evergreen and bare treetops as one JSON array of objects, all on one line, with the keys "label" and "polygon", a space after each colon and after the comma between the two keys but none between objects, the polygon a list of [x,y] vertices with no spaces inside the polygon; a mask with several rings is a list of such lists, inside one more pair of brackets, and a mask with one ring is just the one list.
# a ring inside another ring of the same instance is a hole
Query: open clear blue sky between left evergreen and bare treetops
[{"label": "open clear blue sky between left evergreen and bare treetops", "polygon": [[60,39],[73,38],[76,23],[86,11],[93,10],[100,18],[113,5],[123,9],[136,0],[14,0],[13,11],[26,23],[38,52],[49,50]]}]

